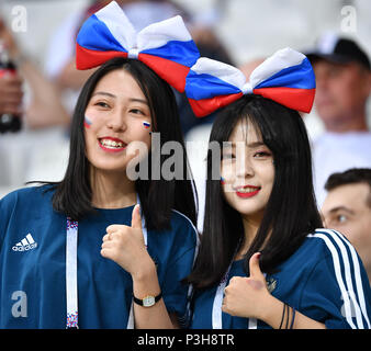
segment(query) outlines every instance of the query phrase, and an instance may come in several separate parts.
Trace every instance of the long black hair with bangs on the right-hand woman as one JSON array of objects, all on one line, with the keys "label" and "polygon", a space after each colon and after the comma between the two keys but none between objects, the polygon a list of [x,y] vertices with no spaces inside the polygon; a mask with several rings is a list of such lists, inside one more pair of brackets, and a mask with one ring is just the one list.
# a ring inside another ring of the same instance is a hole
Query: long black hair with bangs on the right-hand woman
[{"label": "long black hair with bangs on the right-hand woman", "polygon": [[[241,120],[260,132],[274,160],[272,192],[244,268],[248,274],[250,257],[260,251],[261,270],[273,273],[307,234],[322,227],[313,191],[310,143],[296,111],[258,95],[246,95],[226,107],[214,122],[210,143],[216,141],[222,148]],[[211,178],[212,160],[209,149],[203,234],[193,272],[188,278],[195,288],[220,283],[244,238],[240,214],[224,200],[221,181]]]}]

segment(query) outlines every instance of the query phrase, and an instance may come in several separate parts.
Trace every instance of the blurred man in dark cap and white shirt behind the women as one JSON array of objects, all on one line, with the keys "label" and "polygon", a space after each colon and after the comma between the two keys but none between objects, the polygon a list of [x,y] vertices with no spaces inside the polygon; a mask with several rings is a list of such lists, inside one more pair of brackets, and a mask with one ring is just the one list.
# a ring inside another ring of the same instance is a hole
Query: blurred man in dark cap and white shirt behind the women
[{"label": "blurred man in dark cap and white shirt behind the women", "polygon": [[347,38],[325,35],[307,54],[316,76],[315,107],[325,133],[313,143],[314,183],[322,205],[325,182],[353,167],[371,167],[371,133],[367,101],[371,90],[370,59]]}]

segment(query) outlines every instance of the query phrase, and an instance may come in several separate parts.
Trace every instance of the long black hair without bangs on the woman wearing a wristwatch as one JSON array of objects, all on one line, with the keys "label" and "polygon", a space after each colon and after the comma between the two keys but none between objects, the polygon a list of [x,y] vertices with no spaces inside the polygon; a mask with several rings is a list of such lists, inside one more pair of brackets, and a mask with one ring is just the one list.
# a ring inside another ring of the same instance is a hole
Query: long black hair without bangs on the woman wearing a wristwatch
[{"label": "long black hair without bangs on the woman wearing a wristwatch", "polygon": [[[140,200],[142,211],[148,229],[169,228],[171,208],[188,216],[196,223],[196,194],[193,181],[190,180],[186,147],[180,127],[179,113],[175,94],[170,86],[159,78],[151,69],[138,60],[113,58],[90,76],[83,86],[71,122],[70,152],[66,174],[60,182],[54,183],[53,207],[57,212],[81,219],[94,210],[91,204],[92,191],[89,180],[90,163],[86,157],[83,134],[85,111],[91,94],[102,77],[115,70],[124,69],[136,80],[146,97],[153,117],[153,132],[158,132],[160,146],[169,140],[178,141],[183,149],[182,179],[165,180],[162,173],[159,180],[151,180],[150,154],[148,155],[148,179],[135,181],[135,188]],[[150,150],[153,152],[154,150]],[[156,150],[160,152],[160,150]],[[162,166],[166,157],[159,157]]]}]

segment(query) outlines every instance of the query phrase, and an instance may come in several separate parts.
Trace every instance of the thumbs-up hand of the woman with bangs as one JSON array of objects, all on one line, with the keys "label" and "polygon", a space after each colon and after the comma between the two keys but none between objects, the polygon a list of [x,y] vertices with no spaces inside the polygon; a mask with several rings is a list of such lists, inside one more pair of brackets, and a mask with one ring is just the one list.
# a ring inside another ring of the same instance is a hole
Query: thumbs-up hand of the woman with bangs
[{"label": "thumbs-up hand of the woman with bangs", "polygon": [[260,252],[251,256],[250,276],[234,276],[224,290],[222,310],[232,316],[263,319],[268,301],[272,297],[259,265]]}]

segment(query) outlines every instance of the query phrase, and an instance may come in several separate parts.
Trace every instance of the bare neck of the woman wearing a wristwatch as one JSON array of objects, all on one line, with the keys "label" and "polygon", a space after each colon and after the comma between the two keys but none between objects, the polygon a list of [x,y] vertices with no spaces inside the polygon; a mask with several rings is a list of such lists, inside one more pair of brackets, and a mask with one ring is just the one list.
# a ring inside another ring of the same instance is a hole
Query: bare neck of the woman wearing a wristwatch
[{"label": "bare neck of the woman wearing a wristwatch", "polygon": [[97,208],[123,208],[136,203],[135,182],[126,172],[90,171],[92,205]]}]

